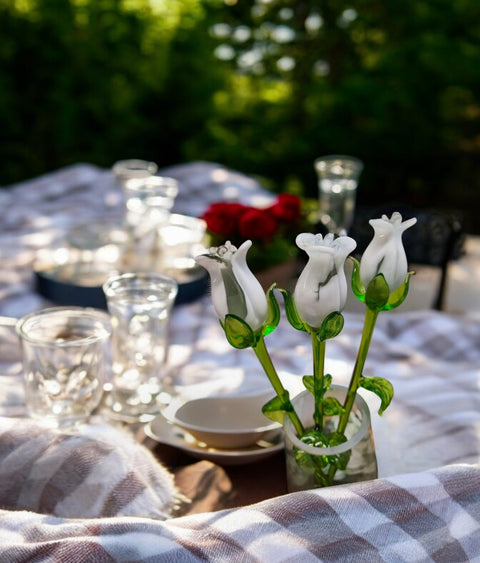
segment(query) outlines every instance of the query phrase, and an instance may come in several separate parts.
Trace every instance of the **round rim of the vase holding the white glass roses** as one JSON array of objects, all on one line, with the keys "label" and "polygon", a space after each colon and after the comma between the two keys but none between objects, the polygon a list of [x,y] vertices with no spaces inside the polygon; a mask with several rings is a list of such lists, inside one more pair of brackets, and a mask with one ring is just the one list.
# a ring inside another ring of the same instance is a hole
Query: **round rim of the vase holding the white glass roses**
[{"label": "round rim of the vase holding the white glass roses", "polygon": [[[347,388],[344,387],[343,385],[331,385],[329,390],[345,390],[345,392],[347,391]],[[327,392],[328,393],[328,392]],[[298,395],[296,395],[295,397],[293,397],[292,399],[292,403],[295,406],[295,399],[297,397],[304,397],[304,396],[310,396],[312,397],[312,409],[313,409],[313,396],[311,395],[311,393],[309,391],[302,391],[301,393],[299,393]],[[298,436],[297,433],[295,431],[295,428],[293,426],[292,421],[288,418],[288,416],[285,416],[285,432],[286,434],[288,434],[289,439],[291,440],[292,444],[294,446],[296,446],[299,449],[304,450],[305,452],[312,454],[312,455],[338,455],[341,454],[345,451],[351,450],[352,448],[354,448],[357,444],[359,444],[362,439],[364,438],[365,434],[368,432],[369,428],[370,428],[370,424],[371,424],[371,420],[370,420],[370,410],[369,407],[367,405],[367,403],[365,402],[365,399],[359,395],[358,393],[355,395],[355,403],[357,404],[361,413],[361,422],[360,422],[360,426],[357,428],[355,434],[353,436],[351,436],[346,442],[344,442],[343,444],[340,444],[338,446],[332,446],[332,447],[324,447],[324,448],[316,448],[314,446],[309,446],[308,444],[305,444],[304,442],[302,442]],[[313,411],[312,411],[313,413]],[[319,450],[321,450],[321,453],[319,453]]]}]

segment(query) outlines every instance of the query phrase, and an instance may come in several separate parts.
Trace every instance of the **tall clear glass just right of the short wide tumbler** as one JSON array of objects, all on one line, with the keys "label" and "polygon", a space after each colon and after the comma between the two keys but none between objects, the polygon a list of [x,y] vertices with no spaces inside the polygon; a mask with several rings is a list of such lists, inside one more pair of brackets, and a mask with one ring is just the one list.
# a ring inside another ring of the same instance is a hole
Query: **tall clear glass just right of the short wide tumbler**
[{"label": "tall clear glass just right of the short wide tumbler", "polygon": [[177,282],[160,274],[127,273],[107,280],[103,290],[113,327],[106,406],[120,420],[151,420],[170,399],[168,322]]}]

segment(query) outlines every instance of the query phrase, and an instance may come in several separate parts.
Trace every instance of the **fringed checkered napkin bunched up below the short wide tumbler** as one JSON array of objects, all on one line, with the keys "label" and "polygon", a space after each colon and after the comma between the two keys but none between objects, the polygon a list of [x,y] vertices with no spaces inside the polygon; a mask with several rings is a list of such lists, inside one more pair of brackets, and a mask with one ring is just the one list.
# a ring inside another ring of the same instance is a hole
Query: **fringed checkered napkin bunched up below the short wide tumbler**
[{"label": "fringed checkered napkin bunched up below the short wide tumbler", "polygon": [[65,518],[148,516],[180,507],[173,474],[120,428],[62,434],[0,418],[0,507]]}]

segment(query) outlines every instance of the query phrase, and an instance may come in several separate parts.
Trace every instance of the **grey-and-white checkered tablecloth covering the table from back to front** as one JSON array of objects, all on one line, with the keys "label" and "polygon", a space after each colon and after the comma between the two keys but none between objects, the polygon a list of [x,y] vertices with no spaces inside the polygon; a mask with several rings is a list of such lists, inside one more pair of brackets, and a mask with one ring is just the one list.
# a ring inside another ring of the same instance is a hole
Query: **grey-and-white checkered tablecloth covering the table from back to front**
[{"label": "grey-and-white checkered tablecloth covering the table from back to front", "polygon": [[[224,197],[268,197],[252,180],[214,164],[170,173],[185,186],[178,199],[182,213],[198,215]],[[50,305],[34,291],[36,251],[56,244],[75,224],[118,218],[121,210],[110,171],[89,165],[0,191],[0,315],[19,317]],[[341,335],[327,345],[326,367],[338,383],[348,380],[362,316],[347,313],[345,321]],[[253,353],[226,342],[208,296],[175,308],[170,342],[172,372],[185,396],[268,389]],[[299,376],[311,371],[306,335],[283,320],[267,344],[285,385],[299,390]],[[153,458],[142,457],[142,446],[121,446],[113,430],[84,436],[78,451],[70,442],[71,455],[49,465],[52,479],[40,479],[44,496],[35,494],[39,465],[32,448],[39,448],[43,463],[65,450],[55,449],[48,436],[41,436],[43,447],[29,421],[12,426],[11,417],[25,414],[20,354],[11,327],[0,326],[0,561],[480,561],[480,315],[382,313],[365,373],[387,377],[395,387],[383,417],[376,414],[376,397],[364,393],[372,410],[378,480],[164,520],[158,509],[172,498],[160,498],[153,489],[165,475]],[[30,452],[28,463],[22,446]],[[130,447],[145,464],[143,482],[128,463]],[[101,455],[75,458],[75,451]],[[102,467],[115,455],[125,463],[125,486],[113,486],[106,469],[105,491]],[[78,483],[69,482],[70,498],[75,491],[91,495],[90,484],[110,498],[102,505],[108,510],[85,507],[72,518],[62,508],[68,499],[55,487],[57,471]],[[129,488],[130,478],[141,485]],[[139,490],[144,497],[138,508],[132,503],[126,509],[128,495]],[[22,506],[19,498],[32,504]]]}]

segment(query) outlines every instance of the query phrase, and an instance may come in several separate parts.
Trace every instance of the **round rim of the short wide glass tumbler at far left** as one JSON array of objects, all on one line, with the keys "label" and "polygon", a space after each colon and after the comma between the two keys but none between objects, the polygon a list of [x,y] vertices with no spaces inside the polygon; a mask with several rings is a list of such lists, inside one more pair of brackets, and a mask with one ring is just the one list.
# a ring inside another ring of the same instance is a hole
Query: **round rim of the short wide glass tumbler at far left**
[{"label": "round rim of the short wide glass tumbler at far left", "polygon": [[[68,316],[65,316],[65,314]],[[32,336],[28,331],[28,325],[34,321],[40,321],[45,317],[60,317],[60,315],[65,316],[65,326],[68,327],[69,319],[77,318],[89,318],[91,320],[100,323],[102,330],[91,334],[89,336],[84,336],[81,338],[74,338],[71,340],[64,341],[52,341],[50,338],[41,338],[38,336]],[[73,346],[84,346],[85,344],[93,342],[101,342],[107,340],[112,333],[112,326],[110,321],[110,316],[105,311],[100,309],[95,309],[93,307],[75,307],[75,306],[64,306],[64,307],[47,307],[45,309],[39,309],[37,311],[32,311],[18,319],[15,324],[15,332],[20,337],[21,340],[29,342],[31,344],[38,344],[42,346],[52,347],[52,348],[68,348]]]}]

